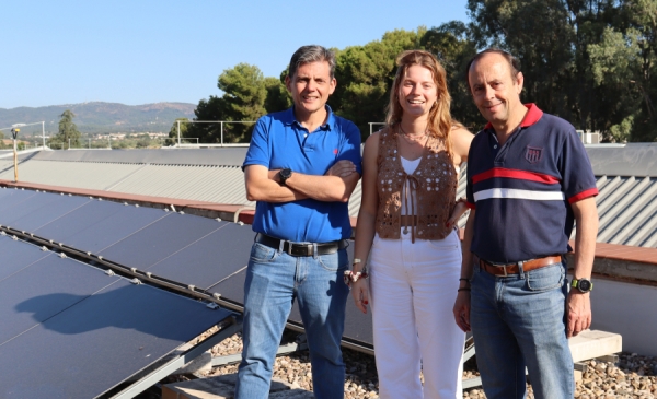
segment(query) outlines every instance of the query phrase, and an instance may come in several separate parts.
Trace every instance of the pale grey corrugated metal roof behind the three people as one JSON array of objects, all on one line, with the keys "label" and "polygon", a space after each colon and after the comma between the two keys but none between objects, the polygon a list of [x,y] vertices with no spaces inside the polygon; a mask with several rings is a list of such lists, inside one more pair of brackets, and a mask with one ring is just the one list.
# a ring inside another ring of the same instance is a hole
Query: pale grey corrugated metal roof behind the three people
[{"label": "pale grey corrugated metal roof behind the three people", "polygon": [[[245,153],[245,148],[48,151],[22,160],[19,179],[253,207],[246,200],[240,168]],[[591,145],[587,153],[600,190],[598,242],[657,247],[657,144]],[[465,196],[465,175],[466,166],[457,197]],[[0,159],[0,179],[13,180],[11,159]],[[358,215],[360,200],[358,183],[349,200],[351,216]],[[463,218],[459,225],[464,224]]]}]

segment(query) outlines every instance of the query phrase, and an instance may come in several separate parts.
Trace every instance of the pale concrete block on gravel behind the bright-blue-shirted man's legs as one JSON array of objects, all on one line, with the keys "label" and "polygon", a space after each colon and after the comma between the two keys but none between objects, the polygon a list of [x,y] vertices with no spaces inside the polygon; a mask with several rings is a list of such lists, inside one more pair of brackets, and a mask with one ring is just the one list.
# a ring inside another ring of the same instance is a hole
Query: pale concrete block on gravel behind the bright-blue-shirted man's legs
[{"label": "pale concrete block on gravel behind the bright-blue-shirted man's legs", "polygon": [[[162,386],[162,399],[233,399],[237,374],[200,378]],[[311,391],[274,378],[269,399],[312,399]]]}]

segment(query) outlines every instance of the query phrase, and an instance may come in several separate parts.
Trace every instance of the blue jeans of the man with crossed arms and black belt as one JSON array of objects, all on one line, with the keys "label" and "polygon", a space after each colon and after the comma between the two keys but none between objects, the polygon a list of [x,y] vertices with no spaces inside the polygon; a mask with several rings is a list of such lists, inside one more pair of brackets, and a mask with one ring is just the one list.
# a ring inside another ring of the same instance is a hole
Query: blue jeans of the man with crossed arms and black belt
[{"label": "blue jeans of the man with crossed arms and black belt", "polygon": [[349,289],[343,281],[346,249],[292,257],[255,243],[244,283],[244,349],[235,399],[269,396],[276,350],[297,298],[306,329],[314,396],[344,397],[345,364],[339,347]]}]

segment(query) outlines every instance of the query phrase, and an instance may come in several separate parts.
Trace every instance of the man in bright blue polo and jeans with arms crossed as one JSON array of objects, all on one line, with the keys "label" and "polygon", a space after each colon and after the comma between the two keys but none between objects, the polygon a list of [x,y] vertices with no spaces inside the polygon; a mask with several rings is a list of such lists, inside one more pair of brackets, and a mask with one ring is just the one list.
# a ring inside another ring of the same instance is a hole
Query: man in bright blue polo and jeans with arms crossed
[{"label": "man in bright blue polo and jeans with arms crossed", "polygon": [[274,357],[295,298],[306,329],[315,398],[343,398],[339,341],[348,287],[349,196],[360,178],[360,132],[326,105],[335,56],[303,46],[286,86],[293,106],[260,118],[244,161],[246,197],[257,201],[244,284],[237,399],[269,396]]}]

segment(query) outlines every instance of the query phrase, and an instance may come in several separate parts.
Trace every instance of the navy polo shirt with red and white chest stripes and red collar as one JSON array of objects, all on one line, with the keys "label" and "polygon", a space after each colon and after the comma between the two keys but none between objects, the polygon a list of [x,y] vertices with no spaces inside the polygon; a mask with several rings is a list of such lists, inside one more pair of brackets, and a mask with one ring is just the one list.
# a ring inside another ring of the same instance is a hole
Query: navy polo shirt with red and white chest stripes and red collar
[{"label": "navy polo shirt with red and white chest stripes and red collar", "polygon": [[534,104],[504,145],[488,124],[468,155],[468,206],[476,209],[471,251],[500,263],[565,254],[570,203],[598,195],[575,128]]}]

